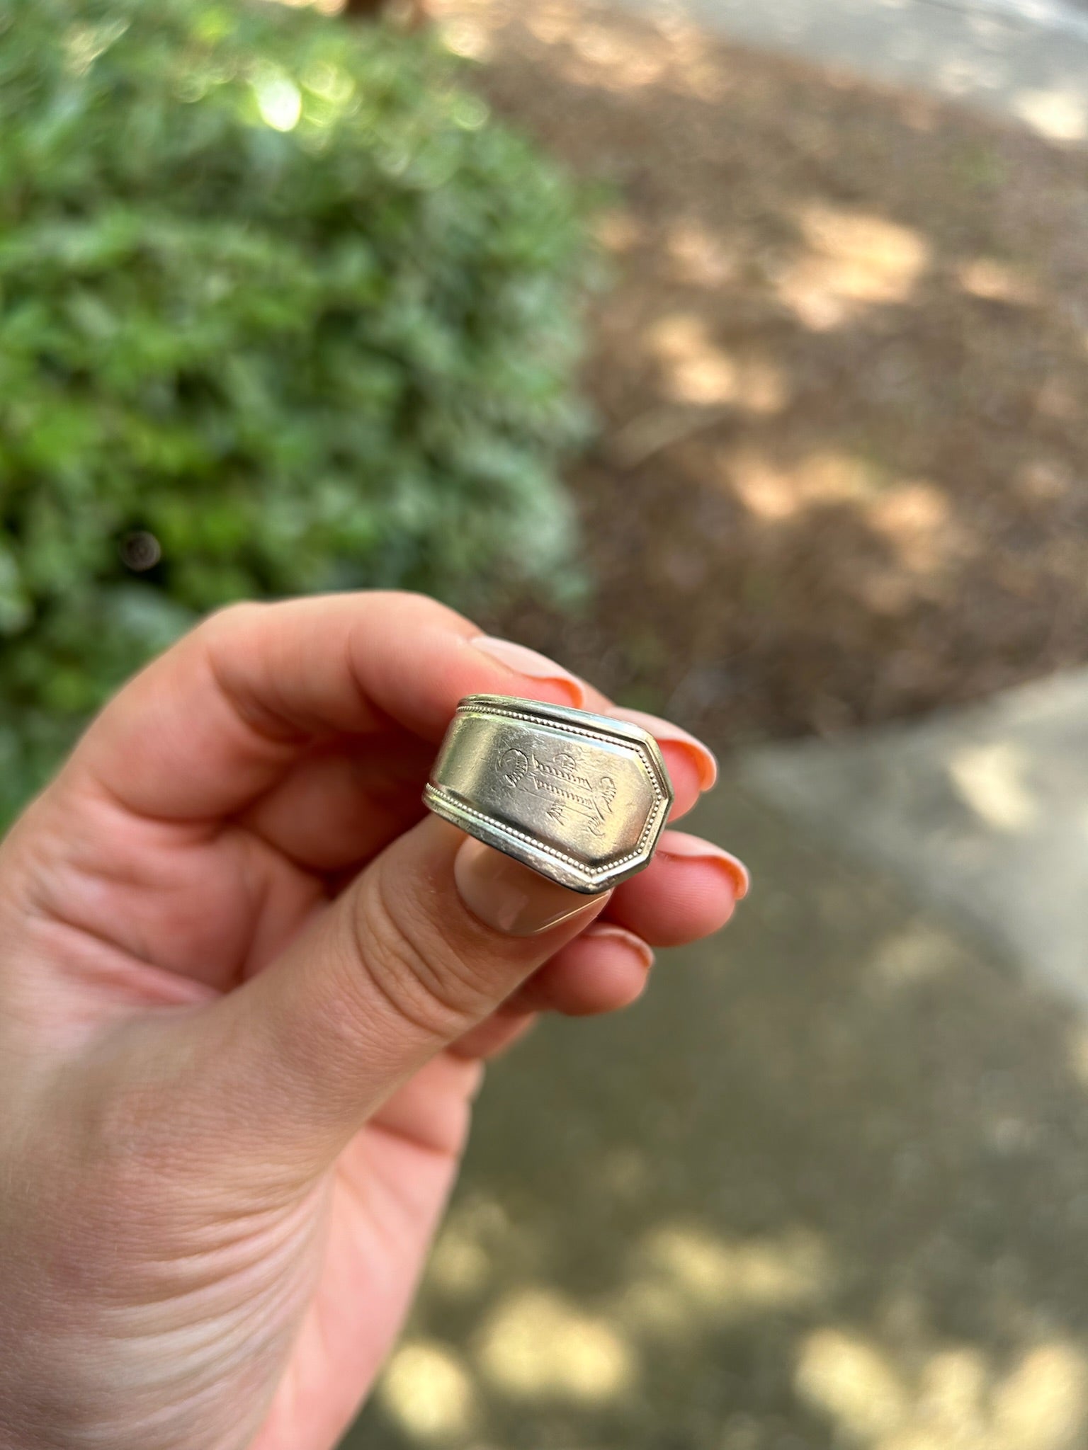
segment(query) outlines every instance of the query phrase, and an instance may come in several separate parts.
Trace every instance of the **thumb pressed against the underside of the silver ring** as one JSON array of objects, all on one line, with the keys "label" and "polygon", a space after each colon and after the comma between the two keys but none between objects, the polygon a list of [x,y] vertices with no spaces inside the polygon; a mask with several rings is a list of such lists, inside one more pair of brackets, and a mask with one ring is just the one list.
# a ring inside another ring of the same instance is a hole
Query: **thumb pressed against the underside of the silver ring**
[{"label": "thumb pressed against the underside of the silver ring", "polygon": [[325,1167],[405,1079],[493,1012],[606,899],[426,816],[281,957],[202,1014],[205,1080],[244,1125],[247,1156],[260,1146],[263,1160]]}]

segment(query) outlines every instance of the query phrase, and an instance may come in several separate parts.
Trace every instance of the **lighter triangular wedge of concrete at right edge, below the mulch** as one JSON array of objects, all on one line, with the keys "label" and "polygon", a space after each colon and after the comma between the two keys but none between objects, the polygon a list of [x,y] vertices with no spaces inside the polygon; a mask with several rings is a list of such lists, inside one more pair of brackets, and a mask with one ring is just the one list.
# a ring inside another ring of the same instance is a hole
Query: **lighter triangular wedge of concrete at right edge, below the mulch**
[{"label": "lighter triangular wedge of concrete at right edge, below the mulch", "polygon": [[1088,1005],[1088,670],[923,724],[753,751],[741,773]]}]

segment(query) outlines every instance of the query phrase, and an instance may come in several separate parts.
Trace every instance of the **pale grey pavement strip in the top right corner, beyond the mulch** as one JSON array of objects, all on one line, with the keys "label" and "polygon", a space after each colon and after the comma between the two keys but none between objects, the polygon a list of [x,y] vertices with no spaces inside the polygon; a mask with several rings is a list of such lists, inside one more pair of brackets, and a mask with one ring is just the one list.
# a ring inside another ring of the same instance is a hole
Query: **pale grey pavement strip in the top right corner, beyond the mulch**
[{"label": "pale grey pavement strip in the top right corner, beyond the mulch", "polygon": [[1088,0],[625,0],[1088,141]]}]

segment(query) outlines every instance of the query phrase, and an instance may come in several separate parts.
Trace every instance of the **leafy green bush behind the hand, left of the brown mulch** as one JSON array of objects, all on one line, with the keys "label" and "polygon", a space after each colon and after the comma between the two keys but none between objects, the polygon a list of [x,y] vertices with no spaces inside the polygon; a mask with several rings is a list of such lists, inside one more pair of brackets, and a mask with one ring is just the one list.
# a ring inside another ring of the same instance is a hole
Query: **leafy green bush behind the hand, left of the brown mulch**
[{"label": "leafy green bush behind the hand, left of the brown mulch", "polygon": [[0,819],[203,610],[563,576],[564,177],[432,39],[0,7]]}]

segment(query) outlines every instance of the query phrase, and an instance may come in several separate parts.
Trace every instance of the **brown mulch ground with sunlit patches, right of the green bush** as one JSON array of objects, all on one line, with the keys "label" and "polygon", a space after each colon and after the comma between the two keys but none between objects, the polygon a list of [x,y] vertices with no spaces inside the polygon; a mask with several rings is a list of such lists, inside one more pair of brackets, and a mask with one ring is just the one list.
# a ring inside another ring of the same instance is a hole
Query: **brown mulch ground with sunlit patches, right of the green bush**
[{"label": "brown mulch ground with sunlit patches, right of the green bush", "polygon": [[435,0],[615,202],[595,599],[487,621],[712,742],[1088,658],[1088,155],[588,0]]}]

